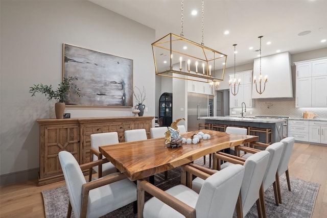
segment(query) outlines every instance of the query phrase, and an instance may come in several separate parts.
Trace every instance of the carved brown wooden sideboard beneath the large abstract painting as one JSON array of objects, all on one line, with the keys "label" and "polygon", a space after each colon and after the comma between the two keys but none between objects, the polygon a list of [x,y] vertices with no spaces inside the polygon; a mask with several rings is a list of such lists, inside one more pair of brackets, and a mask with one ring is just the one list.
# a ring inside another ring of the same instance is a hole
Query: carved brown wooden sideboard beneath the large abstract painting
[{"label": "carved brown wooden sideboard beneath the large abstract painting", "polygon": [[92,117],[69,119],[37,119],[40,126],[40,172],[38,185],[64,179],[58,158],[60,151],[71,152],[79,164],[89,161],[90,135],[118,132],[120,142],[124,131],[145,129],[150,138],[153,116]]}]

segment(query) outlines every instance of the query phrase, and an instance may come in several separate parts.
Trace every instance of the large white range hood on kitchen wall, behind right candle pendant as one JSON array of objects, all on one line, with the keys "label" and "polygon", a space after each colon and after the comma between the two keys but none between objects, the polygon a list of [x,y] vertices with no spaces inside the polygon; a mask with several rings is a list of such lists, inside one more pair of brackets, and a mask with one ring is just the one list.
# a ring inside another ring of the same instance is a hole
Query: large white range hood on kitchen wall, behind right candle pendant
[{"label": "large white range hood on kitchen wall, behind right candle pendant", "polygon": [[[261,58],[261,74],[264,78],[268,76],[266,90],[259,94],[252,84],[252,99],[268,98],[293,98],[291,57],[288,52],[270,55]],[[253,78],[257,78],[259,89],[260,58],[254,59]]]}]

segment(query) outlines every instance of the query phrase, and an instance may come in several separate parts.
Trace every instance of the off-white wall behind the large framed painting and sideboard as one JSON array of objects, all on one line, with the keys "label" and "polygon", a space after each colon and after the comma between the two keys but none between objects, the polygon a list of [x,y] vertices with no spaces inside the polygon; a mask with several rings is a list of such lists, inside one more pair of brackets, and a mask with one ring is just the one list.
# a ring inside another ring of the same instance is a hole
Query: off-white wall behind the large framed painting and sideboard
[{"label": "off-white wall behind the large framed painting and sideboard", "polygon": [[[62,80],[62,43],[133,59],[133,85],[145,86],[155,114],[155,31],[88,1],[1,2],[1,176],[39,167],[37,118],[55,118],[54,101],[29,87]],[[72,117],[132,116],[132,108],[66,107]],[[36,177],[36,175],[35,175]]]}]

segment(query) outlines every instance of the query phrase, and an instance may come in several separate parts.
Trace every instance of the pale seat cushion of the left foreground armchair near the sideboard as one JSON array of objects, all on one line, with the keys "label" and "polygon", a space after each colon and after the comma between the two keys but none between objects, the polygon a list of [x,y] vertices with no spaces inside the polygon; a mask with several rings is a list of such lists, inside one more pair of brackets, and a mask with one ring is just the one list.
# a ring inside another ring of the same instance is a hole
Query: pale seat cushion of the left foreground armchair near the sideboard
[{"label": "pale seat cushion of the left foreground armchair near the sideboard", "polygon": [[86,217],[100,217],[136,201],[137,189],[129,179],[90,190]]}]

